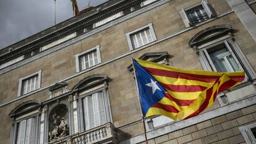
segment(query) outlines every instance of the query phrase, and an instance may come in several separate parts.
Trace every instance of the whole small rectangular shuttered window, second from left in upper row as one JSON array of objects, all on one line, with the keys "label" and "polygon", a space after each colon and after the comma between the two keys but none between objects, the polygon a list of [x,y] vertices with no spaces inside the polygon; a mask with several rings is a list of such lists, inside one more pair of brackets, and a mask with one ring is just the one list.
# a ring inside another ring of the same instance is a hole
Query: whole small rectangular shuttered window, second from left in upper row
[{"label": "whole small rectangular shuttered window, second from left in upper row", "polygon": [[75,55],[77,72],[81,70],[88,69],[89,67],[95,66],[101,63],[100,58],[100,46],[95,46],[95,48],[89,49],[80,54]]}]

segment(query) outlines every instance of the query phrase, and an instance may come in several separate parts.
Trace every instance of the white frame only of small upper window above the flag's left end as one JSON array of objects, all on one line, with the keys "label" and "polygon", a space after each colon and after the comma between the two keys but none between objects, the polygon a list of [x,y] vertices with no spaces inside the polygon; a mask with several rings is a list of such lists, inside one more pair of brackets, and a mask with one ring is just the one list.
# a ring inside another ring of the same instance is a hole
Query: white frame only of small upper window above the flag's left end
[{"label": "white frame only of small upper window above the flag's left end", "polygon": [[132,32],[126,33],[126,38],[127,38],[127,41],[128,41],[128,45],[129,45],[130,51],[132,51],[132,50],[134,50],[134,49],[142,48],[143,46],[147,46],[148,44],[150,44],[150,43],[147,43],[147,44],[144,44],[143,46],[140,46],[140,47],[138,47],[138,48],[134,48],[134,44],[132,43],[132,38],[131,38],[131,36],[134,35],[135,33],[138,33],[138,32],[140,32],[140,31],[146,29],[146,28],[149,29],[149,31],[150,31],[150,33],[151,33],[152,40],[153,40],[153,41],[151,41],[150,43],[153,43],[154,41],[157,40],[156,34],[155,34],[155,30],[154,30],[154,28],[153,28],[153,23],[148,23],[148,25],[145,25],[145,26],[143,26],[143,27],[140,27],[140,28],[138,28],[137,30],[134,30],[134,31],[132,31]]}]

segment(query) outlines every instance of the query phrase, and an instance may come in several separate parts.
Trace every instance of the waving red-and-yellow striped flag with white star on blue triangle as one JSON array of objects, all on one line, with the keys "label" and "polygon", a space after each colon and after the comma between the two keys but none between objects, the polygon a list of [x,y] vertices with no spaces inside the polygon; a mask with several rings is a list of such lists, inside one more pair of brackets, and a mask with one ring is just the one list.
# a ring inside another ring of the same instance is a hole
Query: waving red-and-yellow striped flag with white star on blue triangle
[{"label": "waving red-and-yellow striped flag with white star on blue triangle", "polygon": [[181,70],[133,60],[144,117],[188,119],[211,106],[221,91],[244,80],[244,72]]}]

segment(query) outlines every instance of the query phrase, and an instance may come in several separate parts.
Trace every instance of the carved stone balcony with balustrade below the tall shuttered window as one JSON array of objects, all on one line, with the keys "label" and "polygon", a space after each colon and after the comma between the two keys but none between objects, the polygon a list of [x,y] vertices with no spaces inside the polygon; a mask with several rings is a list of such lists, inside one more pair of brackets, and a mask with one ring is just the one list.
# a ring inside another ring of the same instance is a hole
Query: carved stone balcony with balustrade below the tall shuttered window
[{"label": "carved stone balcony with balustrade below the tall shuttered window", "polygon": [[75,133],[64,138],[53,140],[48,144],[90,144],[90,143],[113,143],[117,142],[116,128],[111,122],[95,127],[81,133]]}]

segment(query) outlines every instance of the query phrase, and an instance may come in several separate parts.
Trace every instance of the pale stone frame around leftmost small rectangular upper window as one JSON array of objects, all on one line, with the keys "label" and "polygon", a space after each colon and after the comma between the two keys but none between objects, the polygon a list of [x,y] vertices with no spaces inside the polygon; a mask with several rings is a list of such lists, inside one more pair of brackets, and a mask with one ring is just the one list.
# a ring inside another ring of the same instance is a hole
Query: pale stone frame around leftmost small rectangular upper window
[{"label": "pale stone frame around leftmost small rectangular upper window", "polygon": [[[23,77],[23,78],[19,79],[18,97],[19,96],[23,96],[23,95],[27,95],[28,93],[32,93],[33,91],[36,91],[36,90],[41,88],[41,72],[42,72],[42,70],[39,70],[38,72],[35,72],[34,74],[30,74],[30,75],[28,75],[26,77]],[[27,78],[30,78],[30,77],[34,77],[35,75],[38,75],[37,89],[23,94],[23,92],[22,92],[23,80],[26,80]]]}]

